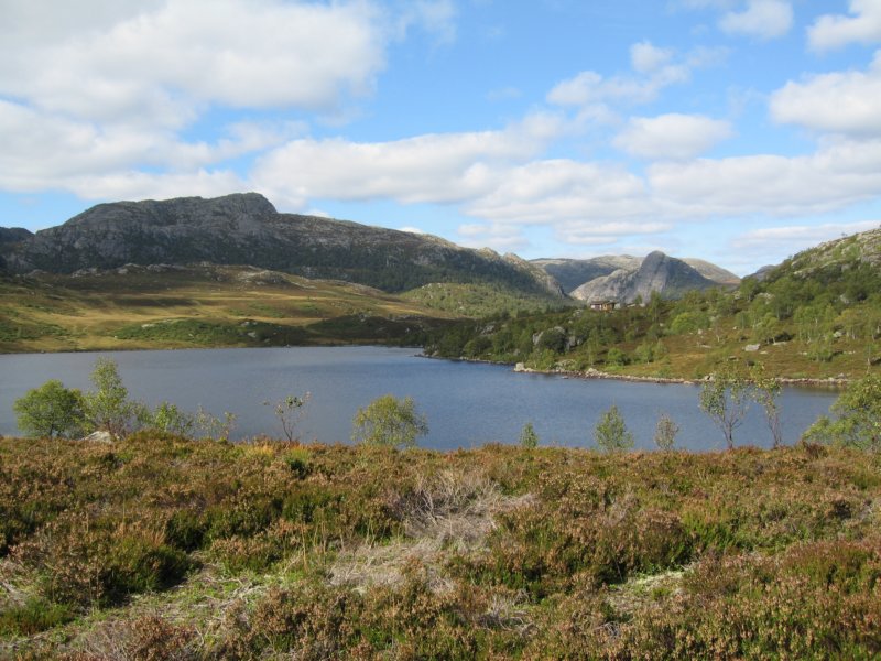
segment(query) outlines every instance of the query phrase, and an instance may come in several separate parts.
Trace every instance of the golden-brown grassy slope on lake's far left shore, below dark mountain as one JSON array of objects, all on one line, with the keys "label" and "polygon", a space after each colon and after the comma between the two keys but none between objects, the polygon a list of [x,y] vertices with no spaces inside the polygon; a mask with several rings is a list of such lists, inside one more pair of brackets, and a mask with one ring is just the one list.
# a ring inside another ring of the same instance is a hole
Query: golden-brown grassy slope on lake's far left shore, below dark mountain
[{"label": "golden-brown grassy slope on lake's far left shore, below dark mountain", "polygon": [[416,345],[446,316],[362,285],[247,267],[0,279],[0,351]]}]

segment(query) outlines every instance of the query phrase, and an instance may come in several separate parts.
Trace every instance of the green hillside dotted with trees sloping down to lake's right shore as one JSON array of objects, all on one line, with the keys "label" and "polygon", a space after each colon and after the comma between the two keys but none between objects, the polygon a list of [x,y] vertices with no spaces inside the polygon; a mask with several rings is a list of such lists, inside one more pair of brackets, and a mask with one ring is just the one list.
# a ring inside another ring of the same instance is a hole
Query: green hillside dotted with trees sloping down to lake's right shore
[{"label": "green hillside dotted with trees sloping down to lake's right shore", "polygon": [[612,313],[494,315],[436,334],[438,356],[536,369],[700,379],[761,364],[793,379],[858,378],[881,362],[881,230],[819,246],[737,290],[653,296]]}]

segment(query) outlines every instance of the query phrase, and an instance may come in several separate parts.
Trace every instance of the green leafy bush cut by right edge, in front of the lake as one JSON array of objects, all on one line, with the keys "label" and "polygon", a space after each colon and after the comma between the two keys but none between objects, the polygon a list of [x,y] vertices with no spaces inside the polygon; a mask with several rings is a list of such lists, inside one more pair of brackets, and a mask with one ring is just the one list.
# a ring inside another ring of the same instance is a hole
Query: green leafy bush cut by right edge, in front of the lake
[{"label": "green leafy bush cut by right edge, in front of the lake", "polygon": [[805,433],[806,440],[881,452],[881,377],[851,383],[831,410],[835,420],[820,418]]}]

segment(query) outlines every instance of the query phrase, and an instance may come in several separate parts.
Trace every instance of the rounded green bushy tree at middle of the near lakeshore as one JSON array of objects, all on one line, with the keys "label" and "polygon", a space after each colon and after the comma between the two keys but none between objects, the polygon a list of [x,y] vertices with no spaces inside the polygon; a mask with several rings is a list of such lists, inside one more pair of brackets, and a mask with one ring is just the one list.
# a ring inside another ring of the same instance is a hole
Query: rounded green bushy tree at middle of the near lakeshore
[{"label": "rounded green bushy tree at middle of the near lakeshore", "polygon": [[352,421],[351,438],[366,445],[413,447],[416,438],[427,433],[428,423],[416,411],[412,398],[399,400],[392,394],[384,394],[367,408],[358,409]]}]

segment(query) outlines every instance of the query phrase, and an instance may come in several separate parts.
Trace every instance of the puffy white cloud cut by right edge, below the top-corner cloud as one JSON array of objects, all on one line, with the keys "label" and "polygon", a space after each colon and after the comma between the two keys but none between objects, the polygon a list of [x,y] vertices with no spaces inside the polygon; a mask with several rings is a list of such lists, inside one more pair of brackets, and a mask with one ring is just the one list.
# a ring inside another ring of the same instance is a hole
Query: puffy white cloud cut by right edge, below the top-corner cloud
[{"label": "puffy white cloud cut by right edge, below the top-corner cloud", "polygon": [[881,136],[881,52],[867,73],[835,72],[787,83],[771,97],[770,109],[779,122]]}]

